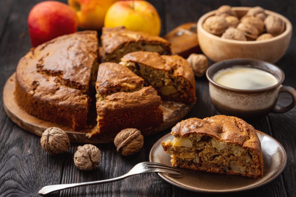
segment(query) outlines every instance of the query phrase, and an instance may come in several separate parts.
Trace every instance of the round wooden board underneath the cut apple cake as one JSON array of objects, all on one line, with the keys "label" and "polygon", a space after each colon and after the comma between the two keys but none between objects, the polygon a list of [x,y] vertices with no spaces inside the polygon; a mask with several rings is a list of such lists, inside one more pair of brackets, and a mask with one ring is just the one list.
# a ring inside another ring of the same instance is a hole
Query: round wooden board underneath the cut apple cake
[{"label": "round wooden board underneath the cut apple cake", "polygon": [[[97,129],[96,126],[90,126],[90,128],[83,129],[81,131],[74,131],[71,126],[65,126],[49,121],[38,119],[27,112],[22,110],[15,100],[15,73],[12,74],[7,80],[3,90],[3,104],[4,110],[7,116],[18,126],[25,129],[26,131],[35,135],[41,136],[43,131],[49,127],[59,127],[67,132],[71,142],[79,143],[109,143],[113,142],[115,134],[101,134],[94,135],[90,138],[88,133],[93,129]],[[180,102],[163,101],[161,107],[163,109],[162,123],[157,128],[141,130],[144,136],[151,135],[153,133],[163,131],[182,119],[191,109],[193,104],[184,104]]]}]

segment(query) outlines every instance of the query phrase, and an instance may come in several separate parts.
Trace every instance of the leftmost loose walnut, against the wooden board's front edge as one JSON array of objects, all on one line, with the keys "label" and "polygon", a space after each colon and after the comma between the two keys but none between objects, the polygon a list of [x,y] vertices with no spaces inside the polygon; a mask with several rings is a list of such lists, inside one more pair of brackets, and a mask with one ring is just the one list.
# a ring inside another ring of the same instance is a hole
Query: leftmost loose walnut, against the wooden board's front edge
[{"label": "leftmost loose walnut, against the wooden board's front edge", "polygon": [[56,155],[66,152],[70,146],[70,139],[62,129],[50,127],[42,133],[40,143],[46,152]]}]

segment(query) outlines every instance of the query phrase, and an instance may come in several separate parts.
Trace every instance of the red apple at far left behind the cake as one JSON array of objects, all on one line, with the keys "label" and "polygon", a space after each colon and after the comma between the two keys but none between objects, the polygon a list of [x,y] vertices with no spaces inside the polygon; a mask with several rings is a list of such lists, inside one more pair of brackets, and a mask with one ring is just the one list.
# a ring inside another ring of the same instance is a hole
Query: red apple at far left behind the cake
[{"label": "red apple at far left behind the cake", "polygon": [[28,26],[34,47],[61,35],[77,31],[75,10],[58,1],[43,1],[30,11]]}]

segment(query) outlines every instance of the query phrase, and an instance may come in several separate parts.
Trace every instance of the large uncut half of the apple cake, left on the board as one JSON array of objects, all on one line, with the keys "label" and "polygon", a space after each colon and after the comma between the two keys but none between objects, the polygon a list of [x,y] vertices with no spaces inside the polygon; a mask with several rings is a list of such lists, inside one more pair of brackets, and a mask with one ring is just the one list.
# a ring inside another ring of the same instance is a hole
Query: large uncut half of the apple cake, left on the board
[{"label": "large uncut half of the apple cake, left on the board", "polygon": [[38,118],[87,126],[87,114],[98,69],[96,31],[64,35],[32,48],[16,69],[15,98]]}]

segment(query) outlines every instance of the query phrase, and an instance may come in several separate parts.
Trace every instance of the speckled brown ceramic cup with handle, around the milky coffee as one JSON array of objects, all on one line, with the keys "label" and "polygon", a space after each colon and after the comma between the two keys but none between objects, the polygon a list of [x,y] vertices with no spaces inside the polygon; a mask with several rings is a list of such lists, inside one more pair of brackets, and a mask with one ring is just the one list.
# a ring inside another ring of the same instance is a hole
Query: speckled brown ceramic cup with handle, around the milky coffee
[{"label": "speckled brown ceramic cup with handle, around the milky coffee", "polygon": [[[245,66],[257,68],[273,74],[278,83],[262,89],[234,89],[222,86],[213,81],[214,74],[232,66]],[[207,69],[210,97],[215,108],[225,115],[236,116],[245,120],[255,120],[270,112],[284,113],[292,109],[296,104],[296,91],[289,86],[281,85],[284,81],[284,72],[274,64],[255,59],[230,59],[220,61]],[[276,105],[280,92],[288,92],[292,96],[292,102],[284,107]]]}]

